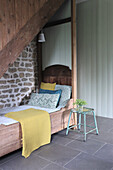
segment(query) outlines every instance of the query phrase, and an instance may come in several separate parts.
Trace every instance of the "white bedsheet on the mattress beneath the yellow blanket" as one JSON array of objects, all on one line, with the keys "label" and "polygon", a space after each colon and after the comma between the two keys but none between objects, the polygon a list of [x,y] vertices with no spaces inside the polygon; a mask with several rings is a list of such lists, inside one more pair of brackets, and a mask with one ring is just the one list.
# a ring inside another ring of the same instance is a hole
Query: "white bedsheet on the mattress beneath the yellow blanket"
[{"label": "white bedsheet on the mattress beneath the yellow blanket", "polygon": [[41,108],[41,107],[29,106],[29,105],[23,105],[23,106],[17,106],[17,107],[10,107],[10,108],[5,108],[5,109],[0,109],[0,125],[1,124],[10,125],[10,124],[13,124],[13,123],[17,123],[16,120],[13,120],[13,119],[5,117],[4,115],[6,113],[17,112],[17,111],[26,110],[26,109],[29,109],[29,108],[45,110],[48,113],[56,112],[56,111],[61,109],[60,106],[55,108],[55,109],[48,109],[48,108]]}]

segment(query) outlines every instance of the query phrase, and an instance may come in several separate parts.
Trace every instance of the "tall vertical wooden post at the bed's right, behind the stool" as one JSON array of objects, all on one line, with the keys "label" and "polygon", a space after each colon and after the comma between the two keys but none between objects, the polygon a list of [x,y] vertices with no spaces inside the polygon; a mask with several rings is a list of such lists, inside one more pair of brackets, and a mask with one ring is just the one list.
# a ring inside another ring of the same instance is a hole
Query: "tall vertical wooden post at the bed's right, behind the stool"
[{"label": "tall vertical wooden post at the bed's right, behind the stool", "polygon": [[[77,99],[76,0],[71,0],[72,98]],[[77,116],[75,115],[75,124]]]}]

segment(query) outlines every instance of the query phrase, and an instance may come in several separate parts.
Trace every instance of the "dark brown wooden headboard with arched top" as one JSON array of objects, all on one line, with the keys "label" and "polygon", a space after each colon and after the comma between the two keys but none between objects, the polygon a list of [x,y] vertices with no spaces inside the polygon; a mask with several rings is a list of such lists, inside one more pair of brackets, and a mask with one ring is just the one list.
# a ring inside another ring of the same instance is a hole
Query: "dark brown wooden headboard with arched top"
[{"label": "dark brown wooden headboard with arched top", "polygon": [[42,72],[42,81],[45,83],[57,83],[71,86],[71,80],[71,70],[68,66],[52,65],[46,67]]}]

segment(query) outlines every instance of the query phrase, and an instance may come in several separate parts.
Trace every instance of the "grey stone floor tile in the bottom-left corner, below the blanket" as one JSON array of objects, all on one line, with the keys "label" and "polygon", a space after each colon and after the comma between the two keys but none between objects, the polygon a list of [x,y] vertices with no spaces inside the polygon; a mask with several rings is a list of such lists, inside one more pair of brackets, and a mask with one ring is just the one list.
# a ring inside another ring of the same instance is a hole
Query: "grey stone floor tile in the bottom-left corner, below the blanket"
[{"label": "grey stone floor tile in the bottom-left corner, below the blanket", "polygon": [[40,170],[50,164],[49,161],[40,158],[39,156],[32,155],[25,159],[22,156],[6,162],[1,165],[3,170]]}]

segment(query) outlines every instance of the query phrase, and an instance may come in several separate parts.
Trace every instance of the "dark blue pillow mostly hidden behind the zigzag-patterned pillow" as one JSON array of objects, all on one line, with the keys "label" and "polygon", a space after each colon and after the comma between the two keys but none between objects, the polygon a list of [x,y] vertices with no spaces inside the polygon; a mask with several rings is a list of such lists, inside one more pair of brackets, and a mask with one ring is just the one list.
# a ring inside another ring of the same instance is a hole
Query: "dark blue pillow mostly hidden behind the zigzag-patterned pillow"
[{"label": "dark blue pillow mostly hidden behind the zigzag-patterned pillow", "polygon": [[[39,93],[59,94],[59,99],[58,99],[58,103],[59,103],[62,90],[61,89],[60,90],[44,90],[44,89],[40,89]],[[57,103],[57,105],[58,105],[58,103]]]}]

